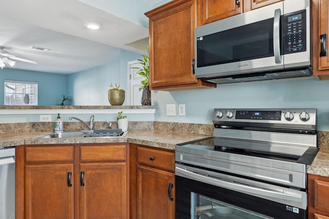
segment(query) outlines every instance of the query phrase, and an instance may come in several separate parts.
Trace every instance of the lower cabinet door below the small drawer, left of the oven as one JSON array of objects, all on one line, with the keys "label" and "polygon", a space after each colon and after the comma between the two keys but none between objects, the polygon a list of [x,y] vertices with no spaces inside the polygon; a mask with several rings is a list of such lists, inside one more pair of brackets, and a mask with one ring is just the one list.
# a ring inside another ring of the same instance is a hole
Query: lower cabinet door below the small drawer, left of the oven
[{"label": "lower cabinet door below the small drawer, left of the oven", "polygon": [[137,166],[138,219],[174,219],[174,173]]}]

